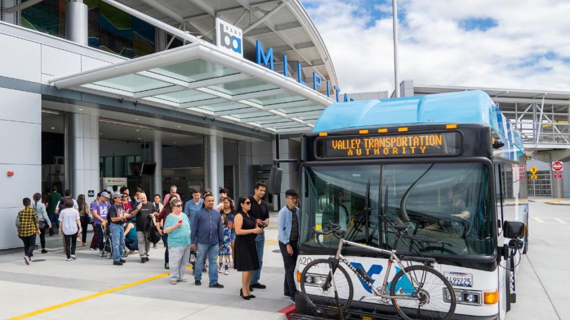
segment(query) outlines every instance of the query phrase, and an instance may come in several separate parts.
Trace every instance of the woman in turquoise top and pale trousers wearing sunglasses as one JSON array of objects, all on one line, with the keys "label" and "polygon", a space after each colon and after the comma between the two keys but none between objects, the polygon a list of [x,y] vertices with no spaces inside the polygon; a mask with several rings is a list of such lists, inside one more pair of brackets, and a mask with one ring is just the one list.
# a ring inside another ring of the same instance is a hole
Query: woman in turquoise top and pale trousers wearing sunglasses
[{"label": "woman in turquoise top and pale trousers wearing sunglasses", "polygon": [[164,221],[164,233],[168,234],[170,284],[187,282],[184,270],[190,259],[190,223],[182,214],[182,202],[174,198],[170,202],[172,213]]}]

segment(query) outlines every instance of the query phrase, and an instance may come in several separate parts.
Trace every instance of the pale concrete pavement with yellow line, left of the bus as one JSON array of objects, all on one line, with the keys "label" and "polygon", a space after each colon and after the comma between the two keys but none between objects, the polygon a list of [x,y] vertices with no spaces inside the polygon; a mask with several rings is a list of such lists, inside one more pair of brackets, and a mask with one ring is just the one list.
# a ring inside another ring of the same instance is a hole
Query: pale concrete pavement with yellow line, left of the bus
[{"label": "pale concrete pavement with yellow line, left of the bus", "polygon": [[[276,311],[291,302],[283,297],[276,237],[276,228],[269,227],[261,279],[267,289],[256,289],[257,298],[250,301],[239,297],[241,273],[234,269],[227,276],[218,274],[223,289],[208,288],[207,274],[202,286],[194,285],[191,270],[188,282],[169,284],[161,243],[150,249],[149,262],[141,264],[135,254],[123,266],[113,266],[112,260],[87,248],[79,248],[78,259],[70,262],[60,249],[44,255],[35,251],[26,266],[23,250],[13,249],[0,256],[0,318],[284,319]],[[58,238],[49,238],[50,243],[57,245]]]}]

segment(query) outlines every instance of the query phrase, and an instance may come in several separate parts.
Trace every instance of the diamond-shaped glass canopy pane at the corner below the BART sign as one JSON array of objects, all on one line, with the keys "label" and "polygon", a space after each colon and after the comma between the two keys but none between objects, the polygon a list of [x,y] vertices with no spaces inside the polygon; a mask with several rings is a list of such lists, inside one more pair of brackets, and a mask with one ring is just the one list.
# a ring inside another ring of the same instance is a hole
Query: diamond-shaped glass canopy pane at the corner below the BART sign
[{"label": "diamond-shaped glass canopy pane at the corner below the BART sign", "polygon": [[210,61],[202,59],[194,59],[181,63],[166,65],[166,67],[154,68],[150,69],[149,71],[188,82],[239,73],[234,69],[226,68],[222,65],[211,63]]}]

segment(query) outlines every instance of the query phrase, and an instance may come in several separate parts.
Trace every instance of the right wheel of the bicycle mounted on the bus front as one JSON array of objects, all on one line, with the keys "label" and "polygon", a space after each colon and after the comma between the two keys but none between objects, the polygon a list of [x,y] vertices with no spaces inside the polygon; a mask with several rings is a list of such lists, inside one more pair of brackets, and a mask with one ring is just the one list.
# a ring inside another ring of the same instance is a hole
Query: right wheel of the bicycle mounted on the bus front
[{"label": "right wheel of the bicycle mounted on the bus front", "polygon": [[[451,301],[443,300],[445,290]],[[443,276],[425,265],[412,265],[400,270],[392,279],[390,296],[400,317],[411,319],[449,320],[455,312],[455,292]]]}]

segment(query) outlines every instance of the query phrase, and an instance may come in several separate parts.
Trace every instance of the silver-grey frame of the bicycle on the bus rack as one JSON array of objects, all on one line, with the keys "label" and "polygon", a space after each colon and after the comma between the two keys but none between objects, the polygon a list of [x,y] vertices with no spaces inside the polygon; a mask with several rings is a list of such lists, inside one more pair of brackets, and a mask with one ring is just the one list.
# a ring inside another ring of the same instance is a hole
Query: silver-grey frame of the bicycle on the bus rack
[{"label": "silver-grey frame of the bicycle on the bus rack", "polygon": [[[361,276],[356,271],[356,268],[354,266],[352,266],[350,264],[350,262],[341,254],[341,251],[343,250],[344,244],[352,245],[353,247],[359,247],[359,248],[367,249],[368,251],[375,251],[375,252],[384,253],[385,255],[390,255],[390,258],[388,259],[388,270],[386,270],[386,274],[384,276],[384,281],[382,282],[382,288],[380,291],[378,291],[378,289],[374,288],[374,286],[372,284],[370,284],[370,282],[366,278]],[[417,297],[410,297],[409,295],[406,295],[406,294],[397,294],[396,296],[389,296],[388,294],[384,294],[384,292],[386,292],[386,289],[388,288],[388,277],[390,276],[390,270],[392,269],[393,261],[396,261],[396,264],[398,264],[398,266],[400,266],[400,268],[402,270],[404,270],[404,268],[405,268],[405,266],[402,265],[401,260],[398,259],[398,256],[396,256],[395,250],[388,251],[388,250],[384,250],[384,249],[380,249],[380,248],[372,248],[372,247],[368,247],[368,245],[355,243],[352,241],[344,240],[344,238],[340,238],[339,248],[336,251],[335,259],[342,261],[350,270],[352,270],[352,272],[355,273],[356,276],[359,277],[359,279],[361,281],[363,281],[368,286],[368,288],[370,288],[370,290],[372,290],[372,292],[374,293],[375,296],[381,297],[383,299],[402,299],[402,300],[416,300],[417,299]],[[404,275],[408,278],[408,280],[414,286],[419,286],[417,281],[415,281],[413,278],[409,277],[408,273],[406,273],[405,271],[404,271]],[[332,269],[331,269],[331,280],[333,281],[333,285],[335,285]],[[336,285],[335,285],[335,290],[336,290]]]}]

